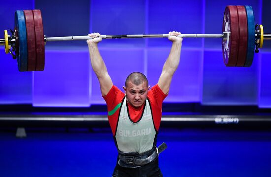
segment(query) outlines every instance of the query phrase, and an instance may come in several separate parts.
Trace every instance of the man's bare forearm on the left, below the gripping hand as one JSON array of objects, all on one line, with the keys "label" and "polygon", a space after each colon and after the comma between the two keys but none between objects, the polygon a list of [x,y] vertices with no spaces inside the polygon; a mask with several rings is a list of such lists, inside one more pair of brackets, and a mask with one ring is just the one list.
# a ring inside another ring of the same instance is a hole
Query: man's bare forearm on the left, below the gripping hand
[{"label": "man's bare forearm on the left, below the gripping hand", "polygon": [[88,44],[91,66],[98,78],[107,73],[106,65],[100,55],[96,43]]}]

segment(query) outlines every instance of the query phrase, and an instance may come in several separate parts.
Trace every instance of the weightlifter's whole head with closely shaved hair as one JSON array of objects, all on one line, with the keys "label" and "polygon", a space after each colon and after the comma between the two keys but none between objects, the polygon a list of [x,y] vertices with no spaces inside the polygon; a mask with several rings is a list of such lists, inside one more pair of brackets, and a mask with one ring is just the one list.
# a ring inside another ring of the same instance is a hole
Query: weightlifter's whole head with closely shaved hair
[{"label": "weightlifter's whole head with closely shaved hair", "polygon": [[127,101],[134,107],[140,107],[145,103],[148,89],[148,79],[140,72],[133,72],[126,78],[125,90]]}]

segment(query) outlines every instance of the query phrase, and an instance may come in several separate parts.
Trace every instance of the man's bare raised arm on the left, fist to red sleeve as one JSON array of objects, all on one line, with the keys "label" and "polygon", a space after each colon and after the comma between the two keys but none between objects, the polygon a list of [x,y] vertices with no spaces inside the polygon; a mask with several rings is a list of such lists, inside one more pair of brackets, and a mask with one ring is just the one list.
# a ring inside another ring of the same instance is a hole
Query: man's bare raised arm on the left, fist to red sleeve
[{"label": "man's bare raised arm on the left, fist to red sleeve", "polygon": [[99,80],[101,93],[103,96],[105,96],[112,88],[113,82],[107,72],[106,65],[99,53],[97,46],[97,44],[102,41],[102,35],[99,33],[92,33],[88,36],[92,37],[92,39],[87,40],[91,66]]}]

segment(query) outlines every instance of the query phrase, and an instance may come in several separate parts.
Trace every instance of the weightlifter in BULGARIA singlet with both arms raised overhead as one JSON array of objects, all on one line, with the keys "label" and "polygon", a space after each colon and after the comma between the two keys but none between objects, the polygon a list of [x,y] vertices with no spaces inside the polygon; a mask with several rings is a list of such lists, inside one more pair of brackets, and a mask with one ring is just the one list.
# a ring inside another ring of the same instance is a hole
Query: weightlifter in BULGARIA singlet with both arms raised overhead
[{"label": "weightlifter in BULGARIA singlet with both arms raised overhead", "polygon": [[150,88],[145,75],[133,72],[125,81],[124,93],[113,84],[99,53],[97,44],[102,41],[102,35],[88,35],[92,38],[87,40],[91,65],[107,104],[109,124],[119,152],[113,177],[162,177],[158,154],[166,145],[163,143],[157,148],[156,138],[162,102],[180,61],[182,38],[177,37],[180,34],[175,31],[168,34],[172,47],[158,83]]}]

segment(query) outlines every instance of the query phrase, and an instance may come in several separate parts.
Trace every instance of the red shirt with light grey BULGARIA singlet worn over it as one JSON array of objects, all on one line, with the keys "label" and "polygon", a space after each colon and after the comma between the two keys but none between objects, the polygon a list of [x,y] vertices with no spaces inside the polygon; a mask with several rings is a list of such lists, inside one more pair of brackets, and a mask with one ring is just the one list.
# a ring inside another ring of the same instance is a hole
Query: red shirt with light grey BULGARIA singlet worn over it
[{"label": "red shirt with light grey BULGARIA singlet worn over it", "polygon": [[[162,117],[162,102],[166,98],[158,85],[148,91],[145,104],[136,110],[128,106],[125,94],[113,86],[106,96],[108,119],[118,150],[143,153],[156,145],[156,136]],[[128,114],[130,113],[130,115]]]}]

